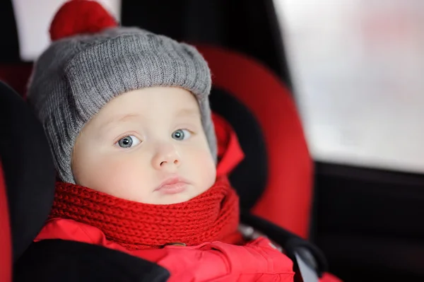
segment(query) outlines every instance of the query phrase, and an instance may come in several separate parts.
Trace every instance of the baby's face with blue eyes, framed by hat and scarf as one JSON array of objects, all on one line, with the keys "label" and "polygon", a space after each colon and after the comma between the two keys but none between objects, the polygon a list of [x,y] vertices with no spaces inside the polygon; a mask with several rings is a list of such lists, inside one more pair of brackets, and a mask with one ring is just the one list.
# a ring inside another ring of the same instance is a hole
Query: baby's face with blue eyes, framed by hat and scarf
[{"label": "baby's face with blue eyes, framed by hat and scarf", "polygon": [[88,122],[72,155],[77,184],[145,204],[176,204],[213,185],[196,98],[180,88],[119,95]]}]

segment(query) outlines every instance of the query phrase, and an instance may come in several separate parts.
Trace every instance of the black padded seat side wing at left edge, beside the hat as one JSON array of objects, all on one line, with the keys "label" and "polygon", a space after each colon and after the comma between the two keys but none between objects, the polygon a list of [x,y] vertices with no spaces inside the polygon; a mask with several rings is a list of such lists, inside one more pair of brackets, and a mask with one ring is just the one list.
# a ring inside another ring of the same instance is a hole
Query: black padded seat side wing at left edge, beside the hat
[{"label": "black padded seat side wing at left edge, beside the hat", "polygon": [[16,262],[52,208],[55,170],[42,125],[25,101],[1,81],[0,129],[0,158]]}]

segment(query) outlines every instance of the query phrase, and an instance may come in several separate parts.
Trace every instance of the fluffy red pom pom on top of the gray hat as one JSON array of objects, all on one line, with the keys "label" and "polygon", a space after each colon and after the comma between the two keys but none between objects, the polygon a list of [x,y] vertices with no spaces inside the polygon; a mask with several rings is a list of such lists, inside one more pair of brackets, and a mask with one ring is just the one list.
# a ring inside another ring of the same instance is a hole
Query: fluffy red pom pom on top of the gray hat
[{"label": "fluffy red pom pom on top of the gray hat", "polygon": [[72,35],[98,33],[115,26],[116,20],[97,1],[71,0],[57,11],[49,31],[54,41]]}]

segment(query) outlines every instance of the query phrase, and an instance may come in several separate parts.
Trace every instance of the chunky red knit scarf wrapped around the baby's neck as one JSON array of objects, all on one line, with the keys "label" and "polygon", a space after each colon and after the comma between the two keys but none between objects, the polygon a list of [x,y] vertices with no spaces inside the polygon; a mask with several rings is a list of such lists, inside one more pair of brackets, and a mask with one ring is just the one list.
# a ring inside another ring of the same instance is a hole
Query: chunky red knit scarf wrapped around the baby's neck
[{"label": "chunky red knit scarf wrapped around the baby's neck", "polygon": [[170,205],[141,204],[57,182],[50,218],[95,226],[126,249],[158,248],[173,242],[191,246],[232,237],[239,223],[239,203],[225,177],[194,199]]}]

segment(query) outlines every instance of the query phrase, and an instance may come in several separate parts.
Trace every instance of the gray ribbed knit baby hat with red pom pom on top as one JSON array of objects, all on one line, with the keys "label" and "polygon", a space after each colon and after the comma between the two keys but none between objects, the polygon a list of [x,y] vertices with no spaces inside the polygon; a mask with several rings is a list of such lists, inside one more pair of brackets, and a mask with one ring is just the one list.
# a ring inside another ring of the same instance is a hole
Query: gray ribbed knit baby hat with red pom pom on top
[{"label": "gray ribbed knit baby hat with red pom pom on top", "polygon": [[114,23],[95,1],[69,1],[52,22],[54,42],[35,62],[28,101],[45,128],[61,180],[75,183],[71,154],[84,124],[117,95],[153,86],[194,94],[216,159],[211,74],[204,58],[192,46]]}]

